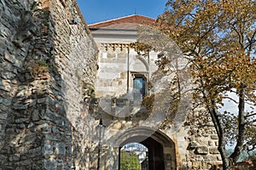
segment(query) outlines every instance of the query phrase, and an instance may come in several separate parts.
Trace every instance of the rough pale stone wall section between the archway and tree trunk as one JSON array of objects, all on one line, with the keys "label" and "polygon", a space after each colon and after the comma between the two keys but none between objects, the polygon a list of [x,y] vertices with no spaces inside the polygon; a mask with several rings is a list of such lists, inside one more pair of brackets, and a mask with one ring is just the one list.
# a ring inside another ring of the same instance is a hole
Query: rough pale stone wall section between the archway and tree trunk
[{"label": "rough pale stone wall section between the archway and tree trunk", "polygon": [[172,139],[177,142],[177,162],[181,169],[212,169],[222,162],[218,135],[211,120],[200,126],[189,115]]}]

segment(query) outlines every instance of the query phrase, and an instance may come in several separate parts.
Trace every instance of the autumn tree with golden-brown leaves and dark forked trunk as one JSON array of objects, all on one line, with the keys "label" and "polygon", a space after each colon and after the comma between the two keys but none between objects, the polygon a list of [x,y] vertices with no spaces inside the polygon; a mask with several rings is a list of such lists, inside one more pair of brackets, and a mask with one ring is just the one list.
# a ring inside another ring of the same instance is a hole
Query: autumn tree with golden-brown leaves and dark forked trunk
[{"label": "autumn tree with golden-brown leaves and dark forked trunk", "polygon": [[[159,29],[172,37],[189,59],[194,97],[212,118],[224,169],[230,169],[242,150],[256,145],[255,11],[253,0],[169,0],[157,20]],[[233,101],[237,111],[220,113],[224,99]],[[227,156],[225,145],[229,142],[236,146]]]}]

